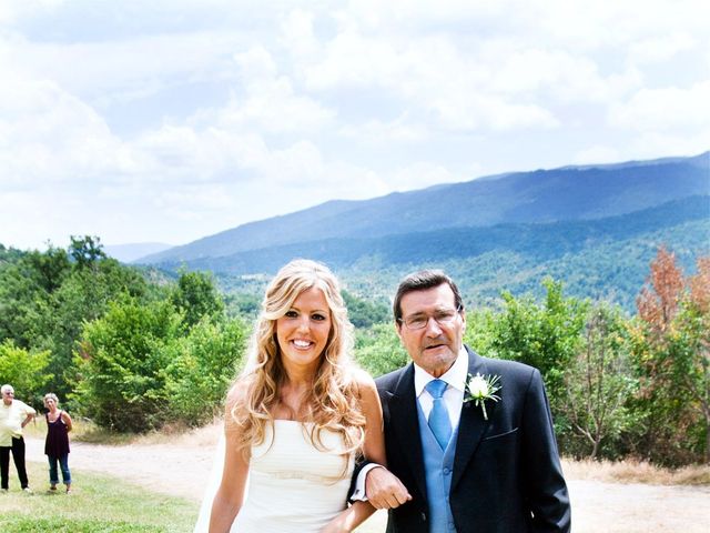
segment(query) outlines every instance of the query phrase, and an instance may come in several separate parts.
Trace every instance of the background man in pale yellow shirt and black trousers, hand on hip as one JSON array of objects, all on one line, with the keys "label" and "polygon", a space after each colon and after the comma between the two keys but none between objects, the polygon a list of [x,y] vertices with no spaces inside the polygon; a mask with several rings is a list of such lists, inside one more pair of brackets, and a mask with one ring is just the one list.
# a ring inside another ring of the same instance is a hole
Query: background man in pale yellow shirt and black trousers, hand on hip
[{"label": "background man in pale yellow shirt and black trousers, hand on hip", "polygon": [[18,469],[20,485],[24,492],[32,492],[29,487],[24,467],[22,430],[34,418],[37,411],[24,402],[14,399],[12,385],[2,385],[0,392],[2,392],[2,404],[0,405],[0,473],[2,490],[7,491],[9,486],[10,451],[12,451],[12,460]]}]

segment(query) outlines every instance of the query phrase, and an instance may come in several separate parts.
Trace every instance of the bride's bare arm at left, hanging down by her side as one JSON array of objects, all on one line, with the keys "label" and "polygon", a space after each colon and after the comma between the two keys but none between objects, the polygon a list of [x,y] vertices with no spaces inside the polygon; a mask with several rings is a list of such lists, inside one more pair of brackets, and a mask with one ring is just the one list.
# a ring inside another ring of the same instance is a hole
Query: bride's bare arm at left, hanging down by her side
[{"label": "bride's bare arm at left, hanging down by her side", "polygon": [[227,398],[227,409],[224,415],[224,466],[222,470],[222,482],[212,502],[210,533],[227,533],[244,502],[248,461],[244,457],[242,450],[239,450],[236,446],[239,436],[236,432],[239,430],[227,428],[231,416],[229,406],[233,405],[234,401],[239,401],[239,388],[235,388],[230,393],[230,398]]}]

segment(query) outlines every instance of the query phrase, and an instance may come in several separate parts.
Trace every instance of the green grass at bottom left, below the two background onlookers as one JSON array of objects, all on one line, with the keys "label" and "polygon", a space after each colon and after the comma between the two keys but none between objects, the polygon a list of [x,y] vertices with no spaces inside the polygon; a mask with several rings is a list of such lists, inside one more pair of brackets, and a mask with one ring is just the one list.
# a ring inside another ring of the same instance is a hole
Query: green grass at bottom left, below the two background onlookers
[{"label": "green grass at bottom left, below the two background onlookers", "polygon": [[197,515],[195,502],[113,476],[72,470],[72,494],[62,492],[62,485],[49,493],[47,465],[28,462],[34,493],[27,494],[13,473],[11,465],[10,491],[0,494],[3,533],[181,533],[192,531]]}]

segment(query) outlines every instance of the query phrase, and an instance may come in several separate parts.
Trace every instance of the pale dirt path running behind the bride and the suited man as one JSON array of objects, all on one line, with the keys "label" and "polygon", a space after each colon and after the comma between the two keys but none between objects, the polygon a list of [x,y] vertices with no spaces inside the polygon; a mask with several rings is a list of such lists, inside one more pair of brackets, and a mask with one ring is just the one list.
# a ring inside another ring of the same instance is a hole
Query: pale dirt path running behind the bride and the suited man
[{"label": "pale dirt path running behind the bride and the suited man", "polygon": [[[193,440],[183,436],[168,444],[129,446],[72,442],[70,466],[116,475],[153,491],[199,502],[210,476],[216,434],[212,431]],[[29,438],[27,442],[28,460],[43,460],[43,441]],[[568,483],[575,533],[704,533],[710,524],[708,486],[575,479]],[[34,483],[34,486],[40,484]],[[373,520],[384,523],[382,515]]]}]

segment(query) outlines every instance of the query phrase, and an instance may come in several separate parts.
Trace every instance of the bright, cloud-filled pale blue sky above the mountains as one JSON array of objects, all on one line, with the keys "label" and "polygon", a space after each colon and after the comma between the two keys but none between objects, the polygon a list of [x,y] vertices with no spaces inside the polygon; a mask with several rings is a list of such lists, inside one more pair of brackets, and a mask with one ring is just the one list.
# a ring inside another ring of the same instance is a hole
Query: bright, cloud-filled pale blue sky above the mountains
[{"label": "bright, cloud-filled pale blue sky above the mountains", "polygon": [[710,149],[707,0],[0,0],[0,243]]}]

